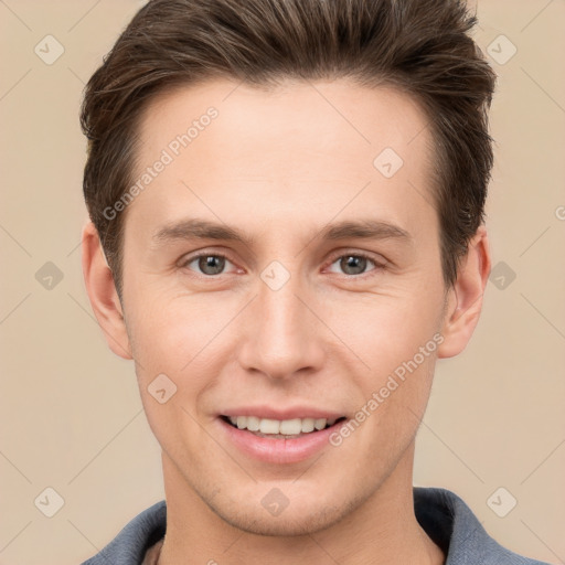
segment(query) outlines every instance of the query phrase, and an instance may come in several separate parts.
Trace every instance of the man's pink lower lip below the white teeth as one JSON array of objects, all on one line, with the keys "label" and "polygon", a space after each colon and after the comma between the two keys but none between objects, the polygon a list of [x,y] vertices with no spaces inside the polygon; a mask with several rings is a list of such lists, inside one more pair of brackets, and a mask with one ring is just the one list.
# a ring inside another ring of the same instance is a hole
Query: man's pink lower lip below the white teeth
[{"label": "man's pink lower lip below the white teeth", "polygon": [[329,428],[291,439],[269,439],[231,426],[223,418],[217,419],[230,441],[241,451],[254,459],[277,465],[297,463],[312,457],[329,446],[330,435],[347,422],[340,420]]}]

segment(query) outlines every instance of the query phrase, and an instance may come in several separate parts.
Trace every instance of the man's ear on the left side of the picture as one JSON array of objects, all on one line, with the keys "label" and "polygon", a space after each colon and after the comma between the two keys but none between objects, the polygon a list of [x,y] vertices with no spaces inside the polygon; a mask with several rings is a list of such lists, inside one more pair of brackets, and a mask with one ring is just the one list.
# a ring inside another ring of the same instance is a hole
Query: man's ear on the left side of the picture
[{"label": "man's ear on the left side of the picture", "polygon": [[98,232],[92,222],[83,227],[82,256],[86,291],[106,341],[116,355],[132,359],[114,276],[106,263]]}]

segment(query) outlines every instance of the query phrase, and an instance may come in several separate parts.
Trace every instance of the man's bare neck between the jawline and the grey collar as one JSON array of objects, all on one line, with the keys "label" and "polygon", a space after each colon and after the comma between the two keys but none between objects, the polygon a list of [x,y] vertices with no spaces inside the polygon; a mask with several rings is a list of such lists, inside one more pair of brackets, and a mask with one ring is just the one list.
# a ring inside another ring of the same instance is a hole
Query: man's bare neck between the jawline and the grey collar
[{"label": "man's bare neck between the jawline and the grey collar", "polygon": [[167,534],[158,565],[444,565],[414,514],[414,444],[367,500],[340,522],[297,536],[257,535],[226,523],[163,452]]}]

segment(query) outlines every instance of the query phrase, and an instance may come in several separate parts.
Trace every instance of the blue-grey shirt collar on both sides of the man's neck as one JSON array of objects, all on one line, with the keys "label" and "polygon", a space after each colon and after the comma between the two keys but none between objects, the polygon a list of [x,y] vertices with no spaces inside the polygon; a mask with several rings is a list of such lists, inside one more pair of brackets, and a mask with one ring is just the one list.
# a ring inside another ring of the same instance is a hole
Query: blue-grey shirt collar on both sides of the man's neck
[{"label": "blue-grey shirt collar on both sides of the man's neck", "polygon": [[[471,509],[454,492],[414,487],[414,512],[420,526],[446,554],[445,565],[548,565],[498,544]],[[82,565],[142,565],[148,550],[164,536],[167,503],[138,514],[94,557]]]}]

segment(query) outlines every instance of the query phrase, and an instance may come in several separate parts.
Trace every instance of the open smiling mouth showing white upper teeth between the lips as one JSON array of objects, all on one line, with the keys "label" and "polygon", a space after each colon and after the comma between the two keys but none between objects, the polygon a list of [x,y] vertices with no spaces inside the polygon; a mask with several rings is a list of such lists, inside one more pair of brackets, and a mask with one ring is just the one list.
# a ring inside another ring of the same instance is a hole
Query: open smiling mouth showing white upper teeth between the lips
[{"label": "open smiling mouth showing white upper teeth between the lips", "polygon": [[294,439],[308,436],[328,429],[347,419],[345,416],[335,419],[307,417],[285,420],[259,418],[257,416],[220,417],[236,429],[269,439]]}]

